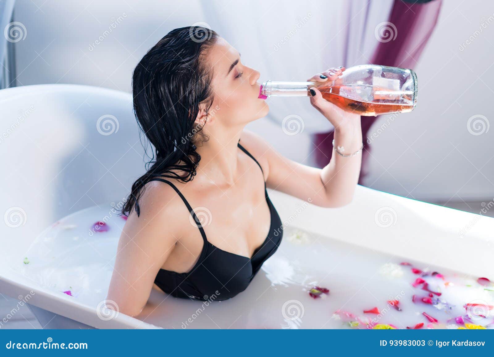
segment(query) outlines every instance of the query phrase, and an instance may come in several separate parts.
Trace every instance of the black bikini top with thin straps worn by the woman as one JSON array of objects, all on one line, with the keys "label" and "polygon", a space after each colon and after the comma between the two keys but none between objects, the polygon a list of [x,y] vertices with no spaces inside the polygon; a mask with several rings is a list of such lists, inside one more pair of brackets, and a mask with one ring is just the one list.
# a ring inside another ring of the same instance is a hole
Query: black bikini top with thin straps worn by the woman
[{"label": "black bikini top with thin straps worn by the woman", "polygon": [[[237,145],[259,165],[259,162],[240,145],[240,140]],[[259,167],[262,172],[261,165]],[[278,249],[283,236],[282,222],[268,197],[266,182],[264,182],[264,193],[271,214],[269,234],[261,246],[255,249],[252,257],[248,258],[244,255],[227,252],[209,243],[201,222],[182,193],[167,180],[154,178],[151,181],[154,180],[167,183],[182,198],[204,240],[199,260],[190,272],[177,273],[160,269],[155,278],[156,285],[172,296],[202,301],[208,299],[226,300],[244,291],[262,264]]]}]

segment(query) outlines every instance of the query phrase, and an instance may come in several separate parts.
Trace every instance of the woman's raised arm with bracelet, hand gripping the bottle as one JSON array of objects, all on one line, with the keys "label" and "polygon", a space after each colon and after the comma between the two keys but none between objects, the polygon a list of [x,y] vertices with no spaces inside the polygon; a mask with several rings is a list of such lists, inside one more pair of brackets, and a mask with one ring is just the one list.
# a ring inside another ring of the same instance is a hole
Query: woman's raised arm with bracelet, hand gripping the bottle
[{"label": "woman's raised arm with bracelet, hand gripping the bottle", "polygon": [[[335,79],[341,72],[340,69],[332,68],[322,73],[328,79],[321,79],[320,74],[317,74],[309,81],[325,82]],[[314,91],[316,95],[311,97],[311,103],[335,127],[335,145],[343,146],[345,155],[358,151],[362,147],[360,115],[343,111],[325,100],[319,90]],[[253,155],[257,155],[259,161],[267,166],[267,187],[322,207],[340,207],[352,201],[359,179],[362,153],[342,157],[333,149],[329,164],[320,169],[287,159],[259,135],[247,130],[244,132],[242,139],[247,143],[247,150],[252,150]]]}]

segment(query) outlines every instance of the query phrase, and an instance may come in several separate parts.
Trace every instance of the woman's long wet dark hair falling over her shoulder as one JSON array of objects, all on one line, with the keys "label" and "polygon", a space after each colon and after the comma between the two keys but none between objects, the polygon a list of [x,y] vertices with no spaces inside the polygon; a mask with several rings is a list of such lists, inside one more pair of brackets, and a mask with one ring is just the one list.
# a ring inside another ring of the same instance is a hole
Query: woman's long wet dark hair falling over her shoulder
[{"label": "woman's long wet dark hair falling over her shoulder", "polygon": [[[146,163],[147,172],[132,185],[122,208],[128,216],[144,185],[154,177],[182,182],[196,175],[201,156],[196,152],[202,127],[194,121],[200,105],[209,109],[213,95],[212,70],[206,66],[207,49],[218,39],[216,32],[201,26],[174,29],[142,57],[132,74],[133,110],[139,128],[156,149],[156,159]],[[151,167],[149,168],[149,165]],[[181,170],[179,176],[171,170]]]}]

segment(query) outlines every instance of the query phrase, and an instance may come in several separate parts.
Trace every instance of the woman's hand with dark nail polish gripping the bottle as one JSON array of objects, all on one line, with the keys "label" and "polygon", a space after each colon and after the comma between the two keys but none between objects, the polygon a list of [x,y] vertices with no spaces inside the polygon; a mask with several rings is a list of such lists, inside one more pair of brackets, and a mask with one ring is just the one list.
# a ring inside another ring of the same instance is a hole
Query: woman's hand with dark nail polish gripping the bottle
[{"label": "woman's hand with dark nail polish gripping the bottle", "polygon": [[[345,67],[334,68],[314,75],[312,78],[307,79],[310,82],[316,82],[316,84],[310,89],[316,93],[310,97],[310,102],[314,108],[316,108],[322,115],[324,115],[329,122],[334,126],[335,130],[339,129],[353,129],[355,125],[360,124],[360,115],[355,113],[346,112],[339,108],[335,104],[328,102],[323,98],[318,86],[324,85],[328,81],[337,79],[341,73],[345,71]],[[326,78],[323,78],[323,77]],[[312,92],[311,92],[312,94]]]}]

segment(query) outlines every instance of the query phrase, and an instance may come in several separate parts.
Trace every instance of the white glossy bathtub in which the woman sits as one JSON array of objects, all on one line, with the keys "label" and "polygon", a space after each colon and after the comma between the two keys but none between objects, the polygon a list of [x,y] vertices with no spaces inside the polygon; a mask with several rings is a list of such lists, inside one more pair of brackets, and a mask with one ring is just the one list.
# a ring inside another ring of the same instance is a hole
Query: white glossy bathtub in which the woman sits
[{"label": "white glossy bathtub in which the woman sits", "polygon": [[[131,95],[84,85],[30,85],[1,90],[0,111],[4,216],[0,225],[0,292],[29,303],[45,328],[177,328],[180,320],[193,315],[198,302],[164,298],[163,293],[153,290],[144,321],[124,314],[101,318],[96,302],[105,298],[107,285],[100,286],[92,298],[78,299],[30,278],[23,266],[30,246],[54,222],[88,207],[92,207],[89,211],[95,217],[108,213],[109,203],[126,197],[133,181],[144,172],[144,153]],[[112,127],[105,128],[105,119],[118,126],[114,125],[113,131]],[[477,277],[492,277],[494,273],[493,218],[362,186],[357,187],[351,204],[338,209],[307,205],[275,191],[269,194],[287,226],[279,251],[245,292],[228,301],[213,302],[207,307],[207,317],[205,314],[194,318],[190,327],[282,326],[286,316],[279,309],[290,297],[287,294],[299,294],[300,288],[275,281],[273,274],[283,268],[284,262],[293,260],[290,254],[299,249],[288,239],[289,233],[297,229],[424,266],[430,264]],[[382,215],[391,221],[385,221]],[[63,222],[70,224],[74,217],[77,214]],[[122,218],[116,218],[124,223]],[[101,259],[99,263],[108,263],[102,260],[114,255],[118,236],[118,229],[114,229],[97,242],[98,249],[105,249],[101,257],[82,249],[77,261],[98,263]],[[328,262],[330,259],[328,254]],[[85,284],[101,278],[97,272],[85,269],[87,265],[78,266]],[[107,266],[101,273],[104,281],[109,281],[109,272]],[[271,290],[278,294],[269,295]],[[311,315],[311,304],[306,303],[306,317],[303,323],[297,322],[298,326],[328,327]],[[225,313],[233,317],[227,319]]]}]

